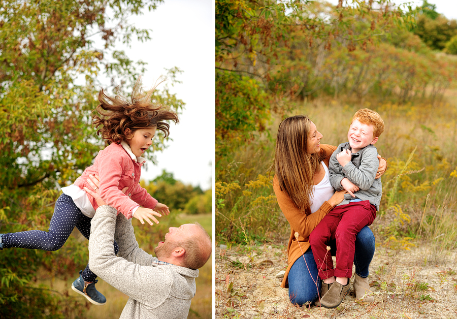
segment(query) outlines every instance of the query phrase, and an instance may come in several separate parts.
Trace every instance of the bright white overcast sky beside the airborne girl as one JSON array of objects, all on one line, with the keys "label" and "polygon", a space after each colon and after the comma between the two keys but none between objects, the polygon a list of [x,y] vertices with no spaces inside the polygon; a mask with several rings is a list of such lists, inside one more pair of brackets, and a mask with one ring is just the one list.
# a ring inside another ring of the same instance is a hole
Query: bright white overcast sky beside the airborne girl
[{"label": "bright white overcast sky beside the airborne girl", "polygon": [[[142,76],[143,86],[150,88],[166,69],[177,67],[182,84],[170,86],[170,91],[183,100],[185,110],[179,124],[170,125],[168,148],[158,152],[157,165],[150,161],[142,170],[141,178],[152,180],[162,170],[174,178],[211,188],[214,160],[214,20],[212,0],[165,0],[152,12],[135,16],[139,28],[152,29],[152,40],[134,42],[123,49],[134,60],[148,62],[147,73]],[[109,84],[109,83],[108,83]],[[163,88],[161,84],[158,89]]]}]

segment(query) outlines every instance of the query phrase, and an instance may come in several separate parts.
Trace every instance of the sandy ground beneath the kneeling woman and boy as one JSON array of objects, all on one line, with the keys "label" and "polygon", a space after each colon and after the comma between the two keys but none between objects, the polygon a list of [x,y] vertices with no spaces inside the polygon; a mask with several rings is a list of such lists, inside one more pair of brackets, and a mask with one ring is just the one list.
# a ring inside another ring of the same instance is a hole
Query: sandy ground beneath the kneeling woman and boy
[{"label": "sandy ground beneath the kneeling woman and boy", "polygon": [[457,251],[377,247],[369,276],[375,302],[356,301],[351,290],[335,309],[293,306],[276,277],[286,265],[283,244],[218,248],[216,318],[457,318]]}]

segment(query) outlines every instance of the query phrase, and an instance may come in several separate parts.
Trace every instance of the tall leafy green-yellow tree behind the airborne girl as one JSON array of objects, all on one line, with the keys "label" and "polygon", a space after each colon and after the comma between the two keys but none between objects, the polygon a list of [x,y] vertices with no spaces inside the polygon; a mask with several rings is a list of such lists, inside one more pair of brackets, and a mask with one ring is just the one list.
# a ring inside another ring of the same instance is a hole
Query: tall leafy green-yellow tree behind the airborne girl
[{"label": "tall leafy green-yellow tree behind the airborne girl", "polygon": [[[2,1],[1,233],[47,230],[59,187],[74,181],[104,147],[91,127],[90,115],[100,89],[97,76],[104,74],[113,84],[122,85],[124,92],[129,91],[145,65],[130,60],[114,43],[128,46],[133,37],[150,39],[149,30],[137,29],[127,18],[153,10],[160,2]],[[102,48],[96,48],[98,36]],[[154,99],[177,111],[183,106],[167,88],[157,91]],[[160,138],[154,149],[163,147]],[[37,290],[30,280],[39,267],[52,275],[68,269],[77,274],[77,267],[87,261],[87,242],[79,241],[71,237],[59,253],[2,251],[0,317],[77,317],[75,311],[67,310],[81,303],[79,298],[70,301],[72,297],[59,296],[47,288]],[[40,308],[36,315],[32,315],[34,308]]]}]

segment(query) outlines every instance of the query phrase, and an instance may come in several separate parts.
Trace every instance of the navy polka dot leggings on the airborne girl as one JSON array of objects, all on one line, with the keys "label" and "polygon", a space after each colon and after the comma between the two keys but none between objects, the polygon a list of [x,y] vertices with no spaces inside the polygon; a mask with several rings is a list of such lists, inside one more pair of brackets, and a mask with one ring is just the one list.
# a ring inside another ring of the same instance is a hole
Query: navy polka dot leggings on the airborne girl
[{"label": "navy polka dot leggings on the airborne girl", "polygon": [[[18,247],[55,251],[63,246],[75,226],[84,237],[89,239],[91,219],[81,212],[70,196],[62,194],[55,202],[48,232],[34,230],[4,234],[2,236],[3,246],[4,248]],[[117,254],[118,251],[119,246],[114,241],[114,253]],[[89,265],[81,275],[88,282],[95,281],[97,277],[90,271]]]}]

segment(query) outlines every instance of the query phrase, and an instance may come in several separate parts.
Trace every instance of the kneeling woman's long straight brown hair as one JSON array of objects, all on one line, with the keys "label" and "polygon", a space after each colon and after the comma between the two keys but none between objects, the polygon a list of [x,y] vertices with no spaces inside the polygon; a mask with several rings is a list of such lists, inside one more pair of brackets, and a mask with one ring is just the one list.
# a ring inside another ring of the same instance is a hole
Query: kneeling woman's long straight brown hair
[{"label": "kneeling woman's long straight brown hair", "polygon": [[306,152],[310,124],[306,115],[284,119],[279,124],[275,148],[274,170],[279,186],[302,211],[311,206],[313,175],[325,157],[321,153]]}]

